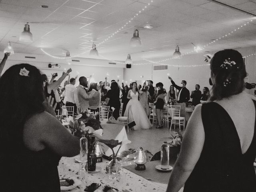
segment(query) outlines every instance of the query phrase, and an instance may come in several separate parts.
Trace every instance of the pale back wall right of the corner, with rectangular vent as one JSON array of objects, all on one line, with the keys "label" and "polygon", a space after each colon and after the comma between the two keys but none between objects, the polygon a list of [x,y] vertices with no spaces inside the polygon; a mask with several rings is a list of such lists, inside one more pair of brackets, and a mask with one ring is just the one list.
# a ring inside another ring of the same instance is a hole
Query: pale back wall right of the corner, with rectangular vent
[{"label": "pale back wall right of the corner, with rectangular vent", "polygon": [[[246,47],[237,49],[243,56],[254,54],[256,52],[256,47]],[[182,59],[174,59],[169,60],[168,62],[162,62],[163,64],[173,64],[173,65],[200,65],[207,64],[204,62],[204,53],[191,54],[183,56]],[[211,53],[214,54],[214,53]],[[255,56],[250,56],[246,58],[246,71],[248,73],[248,77],[246,78],[246,82],[256,82],[256,70],[255,68]],[[154,64],[158,65],[158,64]],[[168,75],[172,77],[174,82],[177,85],[181,85],[181,80],[187,81],[187,88],[190,90],[190,93],[195,88],[195,84],[200,85],[200,90],[202,91],[203,87],[206,86],[209,89],[211,88],[209,84],[210,78],[210,66],[200,66],[200,67],[172,67],[168,66],[168,70],[159,70],[152,71],[152,64],[148,65],[139,65],[132,66],[130,69],[124,69],[124,79],[132,79],[139,80],[140,83],[143,80],[153,80],[154,85],[158,82],[162,82],[164,84],[164,88],[169,90],[171,85],[170,80],[168,80]],[[140,78],[140,76],[144,76]],[[129,82],[128,82],[129,83]],[[246,90],[250,92],[250,94],[254,94],[254,90]]]}]

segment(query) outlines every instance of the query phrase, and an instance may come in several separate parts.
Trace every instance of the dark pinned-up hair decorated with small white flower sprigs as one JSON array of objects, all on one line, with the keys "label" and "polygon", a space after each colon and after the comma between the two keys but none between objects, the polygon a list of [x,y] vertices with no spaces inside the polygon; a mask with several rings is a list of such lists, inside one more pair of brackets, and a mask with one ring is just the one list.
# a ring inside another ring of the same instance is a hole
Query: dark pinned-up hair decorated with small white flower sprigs
[{"label": "dark pinned-up hair decorated with small white flower sprigs", "polygon": [[244,60],[238,51],[225,49],[217,52],[210,62],[210,68],[215,77],[211,101],[228,98],[244,90],[247,74]]}]

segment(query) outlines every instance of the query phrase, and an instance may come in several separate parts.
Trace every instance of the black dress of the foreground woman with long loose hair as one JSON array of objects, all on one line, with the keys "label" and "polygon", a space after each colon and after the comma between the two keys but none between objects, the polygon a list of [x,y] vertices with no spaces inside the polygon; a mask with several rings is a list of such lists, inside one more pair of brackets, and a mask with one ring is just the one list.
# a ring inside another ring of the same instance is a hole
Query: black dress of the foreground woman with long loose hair
[{"label": "black dress of the foreground woman with long loose hair", "polygon": [[60,192],[58,163],[60,156],[49,148],[34,152],[22,139],[13,136],[1,147],[0,191],[3,192]]}]

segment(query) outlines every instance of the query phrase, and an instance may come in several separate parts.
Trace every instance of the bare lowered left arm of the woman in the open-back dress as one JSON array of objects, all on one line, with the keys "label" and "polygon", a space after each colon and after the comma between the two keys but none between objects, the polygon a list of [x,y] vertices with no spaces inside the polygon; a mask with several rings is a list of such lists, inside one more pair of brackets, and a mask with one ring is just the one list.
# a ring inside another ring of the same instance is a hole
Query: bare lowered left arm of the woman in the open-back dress
[{"label": "bare lowered left arm of the woman in the open-back dress", "polygon": [[201,109],[202,105],[196,106],[188,120],[180,154],[172,170],[166,192],[178,192],[200,158],[205,137]]}]

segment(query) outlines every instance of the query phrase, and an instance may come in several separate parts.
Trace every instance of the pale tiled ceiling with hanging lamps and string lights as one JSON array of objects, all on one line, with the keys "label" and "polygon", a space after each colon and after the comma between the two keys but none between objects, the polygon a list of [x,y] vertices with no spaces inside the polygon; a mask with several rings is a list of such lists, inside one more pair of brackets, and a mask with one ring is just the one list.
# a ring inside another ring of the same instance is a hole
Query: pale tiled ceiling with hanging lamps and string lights
[{"label": "pale tiled ceiling with hanging lamps and string lights", "polygon": [[[256,0],[221,0],[256,13]],[[205,45],[212,39],[250,22],[251,15],[210,0],[154,0],[118,34],[98,45],[122,27],[151,0],[0,0],[0,50],[8,41],[15,52],[65,56],[90,51],[95,42],[99,59],[132,60],[171,57],[179,44],[182,53],[191,44]],[[41,8],[47,5],[49,8]],[[33,43],[19,42],[24,24],[30,23]],[[152,29],[141,28],[145,24]],[[139,30],[142,47],[129,46],[134,29]],[[205,51],[256,45],[256,20],[233,35],[208,46]],[[80,57],[92,58],[88,53]]]}]

